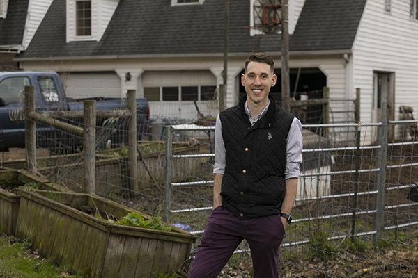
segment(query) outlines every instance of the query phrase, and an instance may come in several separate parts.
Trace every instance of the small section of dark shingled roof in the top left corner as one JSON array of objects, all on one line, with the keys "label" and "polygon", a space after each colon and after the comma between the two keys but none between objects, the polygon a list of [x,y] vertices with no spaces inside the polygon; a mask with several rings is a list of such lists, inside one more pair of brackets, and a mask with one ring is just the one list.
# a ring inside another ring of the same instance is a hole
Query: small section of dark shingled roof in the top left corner
[{"label": "small section of dark shingled roof in the top left corner", "polygon": [[22,45],[29,0],[9,0],[6,18],[0,18],[0,47]]}]

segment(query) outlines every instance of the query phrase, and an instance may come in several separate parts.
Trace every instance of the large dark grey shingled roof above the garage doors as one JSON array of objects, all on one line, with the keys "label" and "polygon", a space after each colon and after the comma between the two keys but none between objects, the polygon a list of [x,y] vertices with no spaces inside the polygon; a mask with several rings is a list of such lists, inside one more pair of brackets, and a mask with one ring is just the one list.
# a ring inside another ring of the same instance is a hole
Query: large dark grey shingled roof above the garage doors
[{"label": "large dark grey shingled roof above the garage doors", "polygon": [[[225,0],[171,6],[169,0],[121,0],[100,42],[65,42],[65,0],[54,0],[18,60],[130,56],[204,56],[224,51]],[[366,0],[306,0],[290,51],[352,48]],[[229,53],[251,53],[249,0],[229,0]],[[280,51],[280,35],[263,35],[257,51]]]}]

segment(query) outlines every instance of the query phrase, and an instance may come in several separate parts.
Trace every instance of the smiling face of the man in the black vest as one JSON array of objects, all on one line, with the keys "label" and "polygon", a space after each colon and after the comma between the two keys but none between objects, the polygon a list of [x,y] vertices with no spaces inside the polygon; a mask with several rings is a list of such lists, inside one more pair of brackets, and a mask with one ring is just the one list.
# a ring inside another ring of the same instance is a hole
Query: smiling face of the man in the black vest
[{"label": "smiling face of the man in the black vest", "polygon": [[242,74],[241,83],[247,92],[247,101],[253,104],[267,106],[270,88],[276,85],[276,74],[270,71],[266,63],[250,62],[247,72]]}]

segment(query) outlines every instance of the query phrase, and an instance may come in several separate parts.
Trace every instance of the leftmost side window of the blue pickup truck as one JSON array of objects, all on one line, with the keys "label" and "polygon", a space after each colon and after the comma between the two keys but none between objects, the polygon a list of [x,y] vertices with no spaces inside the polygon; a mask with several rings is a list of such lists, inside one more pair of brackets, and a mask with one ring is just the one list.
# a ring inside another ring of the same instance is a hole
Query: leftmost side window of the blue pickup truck
[{"label": "leftmost side window of the blue pickup truck", "polygon": [[24,86],[30,86],[31,81],[27,77],[9,77],[0,82],[0,97],[6,105],[23,103]]}]

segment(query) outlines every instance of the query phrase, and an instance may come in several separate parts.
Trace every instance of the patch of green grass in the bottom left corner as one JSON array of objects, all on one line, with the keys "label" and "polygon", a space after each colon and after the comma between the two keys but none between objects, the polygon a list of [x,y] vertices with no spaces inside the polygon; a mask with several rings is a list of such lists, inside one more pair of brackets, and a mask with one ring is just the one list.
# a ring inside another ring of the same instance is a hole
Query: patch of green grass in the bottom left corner
[{"label": "patch of green grass in the bottom left corner", "polygon": [[[13,243],[10,243],[12,240]],[[72,277],[65,266],[55,265],[51,259],[42,258],[38,252],[29,248],[28,240],[15,240],[8,236],[0,237],[0,277],[2,278],[43,278],[43,277]]]}]

